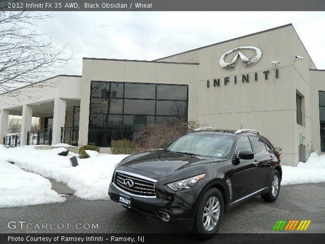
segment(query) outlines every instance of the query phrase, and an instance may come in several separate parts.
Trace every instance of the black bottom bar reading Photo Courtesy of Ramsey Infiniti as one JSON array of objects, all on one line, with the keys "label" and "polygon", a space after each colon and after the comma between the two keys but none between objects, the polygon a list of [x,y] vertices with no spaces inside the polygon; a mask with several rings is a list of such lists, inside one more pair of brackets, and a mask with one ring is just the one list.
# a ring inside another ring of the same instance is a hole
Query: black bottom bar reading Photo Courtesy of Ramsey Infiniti
[{"label": "black bottom bar reading Photo Courtesy of Ramsey Infiniti", "polygon": [[285,243],[285,244],[322,244],[324,243],[325,234],[306,234],[306,233],[277,233],[277,234],[216,234],[212,238],[203,241],[195,234],[106,234],[106,233],[89,233],[89,234],[0,234],[1,244],[118,244],[118,243],[134,243],[134,244],[188,244],[188,243]]}]

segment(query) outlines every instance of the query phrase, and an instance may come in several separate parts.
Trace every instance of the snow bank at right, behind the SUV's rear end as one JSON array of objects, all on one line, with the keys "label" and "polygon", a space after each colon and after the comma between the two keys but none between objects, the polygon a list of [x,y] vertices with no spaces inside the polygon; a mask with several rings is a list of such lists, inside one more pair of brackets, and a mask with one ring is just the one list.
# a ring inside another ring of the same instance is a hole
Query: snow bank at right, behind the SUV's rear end
[{"label": "snow bank at right, behind the SUV's rear end", "polygon": [[325,182],[325,155],[311,153],[307,162],[297,167],[282,166],[281,185]]}]

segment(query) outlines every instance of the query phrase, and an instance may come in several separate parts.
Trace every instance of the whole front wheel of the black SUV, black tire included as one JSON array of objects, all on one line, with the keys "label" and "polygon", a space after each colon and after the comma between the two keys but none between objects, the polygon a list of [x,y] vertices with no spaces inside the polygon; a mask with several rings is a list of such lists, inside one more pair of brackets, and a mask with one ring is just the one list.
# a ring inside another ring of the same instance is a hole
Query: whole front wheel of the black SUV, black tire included
[{"label": "whole front wheel of the black SUV, black tire included", "polygon": [[[217,233],[220,227],[220,223],[223,218],[223,210],[224,205],[222,194],[216,188],[209,189],[200,200],[194,221],[193,231],[202,239],[212,237],[215,233]],[[210,222],[208,220],[209,218]]]}]

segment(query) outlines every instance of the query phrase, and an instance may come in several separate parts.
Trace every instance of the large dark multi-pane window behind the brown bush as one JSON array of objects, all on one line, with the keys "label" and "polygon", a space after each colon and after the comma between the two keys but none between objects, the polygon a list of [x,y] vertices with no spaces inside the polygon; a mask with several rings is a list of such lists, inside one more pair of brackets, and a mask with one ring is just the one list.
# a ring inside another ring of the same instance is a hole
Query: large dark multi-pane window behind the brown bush
[{"label": "large dark multi-pane window behind the brown bush", "polygon": [[92,81],[88,143],[133,140],[146,125],[187,119],[187,85]]}]

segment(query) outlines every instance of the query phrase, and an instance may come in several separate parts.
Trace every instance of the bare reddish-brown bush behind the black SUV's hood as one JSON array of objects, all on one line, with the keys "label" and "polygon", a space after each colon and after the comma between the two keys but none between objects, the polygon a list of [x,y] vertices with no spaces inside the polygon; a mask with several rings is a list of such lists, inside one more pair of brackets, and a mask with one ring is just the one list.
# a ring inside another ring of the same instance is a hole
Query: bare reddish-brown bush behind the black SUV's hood
[{"label": "bare reddish-brown bush behind the black SUV's hood", "polygon": [[197,121],[184,121],[170,117],[162,124],[145,126],[134,141],[143,149],[165,148],[167,143],[175,141],[178,137],[198,127],[200,124]]}]

